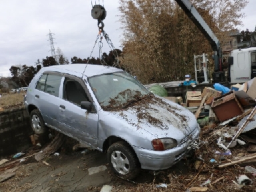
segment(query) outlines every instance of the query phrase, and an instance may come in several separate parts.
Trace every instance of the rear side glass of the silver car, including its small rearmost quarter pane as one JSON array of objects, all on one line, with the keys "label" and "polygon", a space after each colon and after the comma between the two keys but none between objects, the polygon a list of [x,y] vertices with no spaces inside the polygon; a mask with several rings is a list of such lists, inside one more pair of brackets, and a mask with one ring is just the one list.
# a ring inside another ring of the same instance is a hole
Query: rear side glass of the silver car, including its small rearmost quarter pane
[{"label": "rear side glass of the silver car, including its small rearmost quarter pane", "polygon": [[62,77],[59,75],[43,74],[37,82],[36,89],[59,97],[59,86]]}]

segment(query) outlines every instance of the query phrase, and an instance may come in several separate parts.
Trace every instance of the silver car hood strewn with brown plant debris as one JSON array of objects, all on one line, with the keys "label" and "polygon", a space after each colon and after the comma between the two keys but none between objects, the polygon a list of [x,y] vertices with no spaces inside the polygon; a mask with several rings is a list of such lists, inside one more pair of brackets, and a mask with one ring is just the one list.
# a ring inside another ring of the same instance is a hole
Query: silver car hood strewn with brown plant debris
[{"label": "silver car hood strewn with brown plant debris", "polygon": [[155,138],[171,137],[180,140],[197,128],[193,113],[177,103],[155,95],[109,113],[137,129],[143,129]]}]

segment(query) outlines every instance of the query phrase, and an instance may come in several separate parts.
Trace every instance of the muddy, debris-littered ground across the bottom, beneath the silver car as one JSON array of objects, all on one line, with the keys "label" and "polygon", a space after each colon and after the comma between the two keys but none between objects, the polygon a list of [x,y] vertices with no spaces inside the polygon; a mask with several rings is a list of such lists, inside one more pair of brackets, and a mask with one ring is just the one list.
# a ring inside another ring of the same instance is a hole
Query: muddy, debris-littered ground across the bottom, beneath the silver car
[{"label": "muddy, debris-littered ground across the bottom, beneath the silver car", "polygon": [[[225,152],[216,145],[217,136],[213,135],[213,131],[217,129],[220,127],[216,125],[202,129],[201,140],[207,142],[202,143],[195,153],[191,153],[191,157],[182,159],[164,171],[143,170],[133,181],[113,175],[104,153],[91,149],[85,149],[85,153],[81,153],[84,149],[73,151],[75,141],[68,139],[57,151],[59,156],[50,155],[43,159],[45,163],[35,161],[32,156],[22,163],[18,161],[17,164],[8,165],[7,162],[2,165],[0,173],[13,167],[18,169],[14,177],[0,184],[0,191],[100,191],[103,185],[111,185],[112,191],[191,191],[191,187],[200,187],[200,190],[207,191],[256,191],[255,177],[245,171],[246,165],[256,167],[255,160],[218,168],[219,164],[229,163],[233,157],[250,153],[247,151],[249,144],[246,144],[232,148],[232,155],[216,154],[216,151]],[[33,153],[35,150],[26,155]],[[211,159],[216,162],[211,162]],[[97,171],[91,173],[90,168]],[[253,181],[252,185],[241,187],[235,184],[236,177],[244,174]],[[210,182],[204,185],[207,180]],[[161,184],[165,185],[157,186]]]}]

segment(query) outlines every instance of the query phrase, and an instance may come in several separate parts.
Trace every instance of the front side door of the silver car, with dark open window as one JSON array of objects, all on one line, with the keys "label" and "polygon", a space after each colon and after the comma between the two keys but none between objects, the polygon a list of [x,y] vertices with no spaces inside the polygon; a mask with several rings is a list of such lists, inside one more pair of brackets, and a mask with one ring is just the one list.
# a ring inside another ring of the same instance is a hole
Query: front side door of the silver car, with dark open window
[{"label": "front side door of the silver car, with dark open window", "polygon": [[81,101],[93,101],[82,79],[65,75],[59,103],[59,129],[97,147],[98,113],[81,109]]}]

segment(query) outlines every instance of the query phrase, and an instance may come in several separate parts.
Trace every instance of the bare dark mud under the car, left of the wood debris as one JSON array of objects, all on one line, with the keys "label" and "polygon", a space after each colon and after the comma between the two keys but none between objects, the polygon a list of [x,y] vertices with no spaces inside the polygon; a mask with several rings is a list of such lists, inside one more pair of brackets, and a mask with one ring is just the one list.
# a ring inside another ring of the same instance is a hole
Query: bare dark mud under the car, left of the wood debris
[{"label": "bare dark mud under the car, left of the wood debris", "polygon": [[[152,183],[155,179],[152,171],[142,171],[134,181],[119,179],[113,175],[104,153],[86,148],[73,152],[65,147],[58,151],[59,155],[43,159],[46,163],[37,162],[31,156],[22,163],[18,161],[16,165],[5,165],[9,169],[16,167],[17,171],[14,177],[0,184],[0,191],[100,191],[103,185],[122,191],[125,187]],[[25,156],[33,153],[35,151],[30,151]],[[5,167],[0,167],[0,170]],[[89,168],[93,167],[99,167],[95,171],[97,173],[89,173]]]}]

